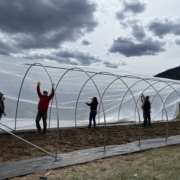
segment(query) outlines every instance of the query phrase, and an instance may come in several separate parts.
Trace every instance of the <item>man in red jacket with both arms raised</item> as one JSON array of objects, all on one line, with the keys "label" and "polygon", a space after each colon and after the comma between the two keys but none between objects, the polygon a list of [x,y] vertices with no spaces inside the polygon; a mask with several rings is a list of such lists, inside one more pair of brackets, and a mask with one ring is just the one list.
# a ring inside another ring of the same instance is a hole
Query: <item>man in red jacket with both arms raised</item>
[{"label": "man in red jacket with both arms raised", "polygon": [[46,133],[47,111],[48,111],[49,102],[51,101],[51,99],[54,96],[54,86],[55,86],[55,84],[52,84],[52,92],[51,92],[51,94],[49,96],[48,96],[47,91],[43,91],[43,94],[41,94],[40,85],[41,85],[41,83],[38,82],[37,83],[37,94],[39,96],[39,103],[38,103],[38,112],[37,112],[37,116],[36,116],[36,127],[38,129],[38,134],[39,135],[41,134],[41,126],[39,124],[39,121],[41,120],[41,118],[43,119],[43,134]]}]

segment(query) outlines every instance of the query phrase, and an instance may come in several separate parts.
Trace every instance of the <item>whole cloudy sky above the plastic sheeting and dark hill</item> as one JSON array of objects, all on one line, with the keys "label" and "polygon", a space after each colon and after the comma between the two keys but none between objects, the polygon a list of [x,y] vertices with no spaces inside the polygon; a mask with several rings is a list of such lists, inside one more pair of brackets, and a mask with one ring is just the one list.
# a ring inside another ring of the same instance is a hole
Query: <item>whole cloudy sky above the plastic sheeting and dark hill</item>
[{"label": "whole cloudy sky above the plastic sheeting and dark hill", "polygon": [[179,66],[179,0],[1,0],[0,58],[155,75]]}]

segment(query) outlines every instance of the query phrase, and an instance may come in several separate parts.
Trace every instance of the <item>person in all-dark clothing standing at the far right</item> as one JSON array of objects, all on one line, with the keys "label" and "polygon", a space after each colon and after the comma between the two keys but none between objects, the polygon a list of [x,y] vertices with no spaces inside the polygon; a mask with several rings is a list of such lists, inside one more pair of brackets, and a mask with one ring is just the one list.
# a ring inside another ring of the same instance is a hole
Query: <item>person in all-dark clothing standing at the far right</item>
[{"label": "person in all-dark clothing standing at the far right", "polygon": [[148,125],[151,126],[151,103],[149,101],[149,96],[146,96],[146,100],[144,102],[143,106],[143,111],[144,111],[144,126],[147,125],[147,120],[148,120]]}]

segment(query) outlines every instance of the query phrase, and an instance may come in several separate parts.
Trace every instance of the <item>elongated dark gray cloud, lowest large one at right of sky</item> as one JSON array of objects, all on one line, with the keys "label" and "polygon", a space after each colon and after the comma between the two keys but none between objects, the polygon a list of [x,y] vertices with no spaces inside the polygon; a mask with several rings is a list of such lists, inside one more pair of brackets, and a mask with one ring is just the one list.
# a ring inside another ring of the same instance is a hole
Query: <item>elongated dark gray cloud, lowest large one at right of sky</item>
[{"label": "elongated dark gray cloud, lowest large one at right of sky", "polygon": [[165,43],[153,41],[150,38],[143,40],[140,43],[135,43],[131,38],[119,37],[117,40],[114,40],[109,51],[112,53],[118,52],[126,57],[157,55],[159,52],[165,51],[163,48],[164,45]]}]

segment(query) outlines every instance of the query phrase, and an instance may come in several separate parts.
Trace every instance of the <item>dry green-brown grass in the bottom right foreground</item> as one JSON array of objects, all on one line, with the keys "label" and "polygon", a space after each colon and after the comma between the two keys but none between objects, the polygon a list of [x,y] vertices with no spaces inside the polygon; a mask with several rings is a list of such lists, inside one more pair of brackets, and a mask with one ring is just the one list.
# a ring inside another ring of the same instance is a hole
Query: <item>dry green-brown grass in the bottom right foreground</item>
[{"label": "dry green-brown grass in the bottom right foreground", "polygon": [[11,180],[178,180],[180,145],[96,160],[82,165],[42,171]]}]

